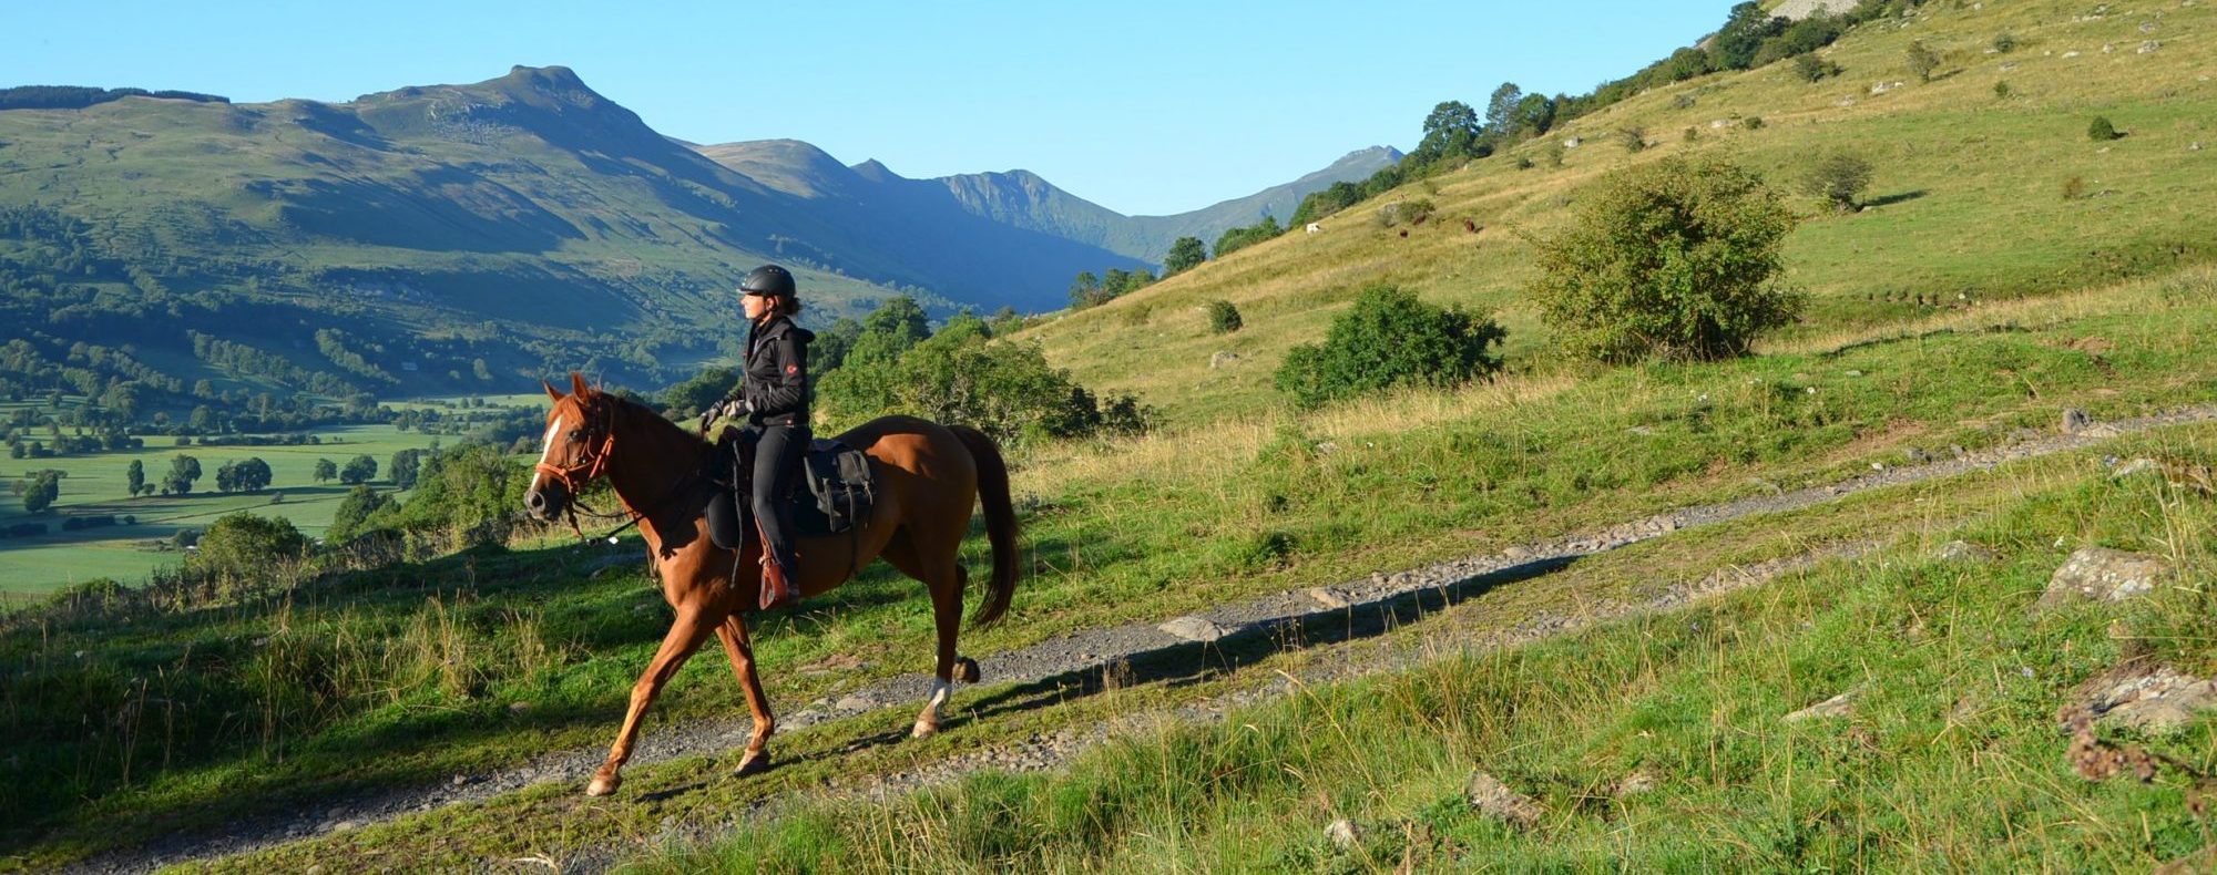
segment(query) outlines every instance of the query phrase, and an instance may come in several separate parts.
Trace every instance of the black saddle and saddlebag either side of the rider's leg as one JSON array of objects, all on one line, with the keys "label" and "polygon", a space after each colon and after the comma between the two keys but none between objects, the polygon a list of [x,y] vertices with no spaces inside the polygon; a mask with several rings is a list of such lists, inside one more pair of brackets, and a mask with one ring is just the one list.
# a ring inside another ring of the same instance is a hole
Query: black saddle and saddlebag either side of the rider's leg
[{"label": "black saddle and saddlebag either side of the rider's leg", "polygon": [[[707,534],[716,547],[738,549],[754,532],[754,441],[727,432],[709,467],[716,496],[707,503]],[[800,476],[791,494],[776,496],[791,507],[800,536],[847,534],[869,523],[878,503],[878,478],[869,456],[829,439],[809,441],[800,454]]]}]

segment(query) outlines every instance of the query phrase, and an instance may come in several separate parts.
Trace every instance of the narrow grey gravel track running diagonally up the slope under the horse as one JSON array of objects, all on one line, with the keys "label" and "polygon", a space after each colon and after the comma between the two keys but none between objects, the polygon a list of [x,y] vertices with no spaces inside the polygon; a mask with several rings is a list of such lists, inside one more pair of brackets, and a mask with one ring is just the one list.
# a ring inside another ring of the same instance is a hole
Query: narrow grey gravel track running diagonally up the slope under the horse
[{"label": "narrow grey gravel track running diagonally up the slope under the horse", "polygon": [[[1907,467],[1882,467],[1873,470],[1871,474],[1862,474],[1842,483],[1727,501],[1718,505],[1685,507],[1667,514],[1647,516],[1641,521],[1612,525],[1596,532],[1581,532],[1554,541],[1508,547],[1499,554],[1457,558],[1392,574],[1372,574],[1368,578],[1344,580],[1337,585],[1279,591],[1235,605],[1215,607],[1202,614],[1171,618],[1166,622],[1131,622],[1106,629],[1086,629],[1071,636],[1044,640],[1018,651],[991,653],[980,658],[978,662],[982,667],[984,678],[991,678],[998,684],[1013,682],[1020,687],[1042,687],[1042,684],[1064,687],[1073,682],[1097,684],[1104,669],[1111,667],[1115,667],[1117,673],[1124,673],[1131,682],[1148,682],[1162,678],[1193,678],[1199,671],[1237,669],[1237,665],[1242,662],[1268,656],[1277,651],[1279,642],[1286,640],[1288,636],[1297,636],[1297,640],[1310,647],[1375,638],[1388,629],[1414,622],[1428,611],[1437,611],[1441,607],[1461,603],[1492,587],[1543,576],[1570,565],[1581,556],[1634,545],[1649,538],[1661,538],[1676,529],[1725,523],[1756,514],[1776,514],[1776,512],[1811,507],[1864,490],[1920,483],[1973,470],[1993,470],[1995,465],[2015,459],[2033,459],[2055,452],[2086,450],[2119,434],[2146,432],[2168,425],[2208,423],[2208,421],[2217,421],[2217,405],[2186,408],[2186,410],[2162,412],[2155,416],[2139,416],[2115,423],[2095,423],[2088,428],[2080,428],[2071,434],[2033,436],[2006,447],[1955,452],[1953,459],[1944,461],[1924,461],[1920,465],[1907,465]],[[1625,616],[1647,609],[1667,609],[1712,591],[1769,580],[1778,574],[1785,574],[1791,567],[1800,567],[1794,563],[1814,563],[1818,558],[1822,556],[1782,560],[1787,565],[1778,565],[1767,574],[1756,574],[1756,569],[1740,569],[1725,576],[1712,576],[1698,583],[1685,583],[1645,603],[1596,605],[1594,609],[1581,611],[1581,618],[1559,618],[1541,614],[1521,625],[1516,634],[1512,634],[1510,638],[1496,636],[1496,640],[1481,640],[1474,645],[1479,647],[1512,645],[1516,640],[1563,634],[1567,629],[1607,620],[1614,616]],[[1408,658],[1363,660],[1359,667],[1350,667],[1350,671],[1368,673],[1406,665],[1412,662]],[[922,673],[889,678],[862,691],[847,693],[838,702],[818,702],[791,716],[783,716],[778,720],[778,729],[803,729],[825,720],[847,718],[880,707],[898,704],[902,709],[918,709],[922,707],[922,700],[929,691],[929,682],[931,678]],[[1224,707],[1235,707],[1235,704],[1242,702],[1239,700],[1208,702],[1202,707],[1202,711],[1219,713]],[[745,747],[749,729],[752,722],[745,718],[654,727],[647,733],[643,733],[630,766],[638,769],[643,764],[667,762],[683,755],[732,753]],[[1002,769],[1051,769],[1064,762],[1071,751],[1097,742],[1100,738],[1104,738],[1104,733],[1106,729],[1086,733],[1066,731],[1062,735],[1069,738],[1033,740],[1031,753],[1026,755],[1011,755],[1011,751],[998,751],[998,755],[995,751],[964,753],[953,760],[947,760],[944,764],[929,766],[916,775],[885,775],[878,778],[873,784],[882,786],[885,791],[900,791],[922,782],[944,780],[947,775],[956,775],[960,771],[969,771],[982,764],[993,764]],[[601,747],[579,749],[579,751],[554,751],[534,758],[525,764],[494,771],[488,775],[457,775],[452,782],[435,786],[410,786],[410,789],[381,791],[357,797],[326,800],[315,806],[308,806],[306,811],[239,820],[233,822],[224,833],[162,837],[137,848],[89,859],[80,866],[73,866],[73,871],[86,871],[86,873],[146,871],[155,866],[259,851],[302,837],[315,837],[330,831],[355,828],[450,804],[481,802],[508,791],[543,782],[568,782],[583,786],[583,782],[601,764],[605,753],[607,751]],[[574,859],[570,864],[574,866],[581,862],[585,859]],[[530,862],[530,864],[541,866],[541,871],[545,868],[545,862]]]}]

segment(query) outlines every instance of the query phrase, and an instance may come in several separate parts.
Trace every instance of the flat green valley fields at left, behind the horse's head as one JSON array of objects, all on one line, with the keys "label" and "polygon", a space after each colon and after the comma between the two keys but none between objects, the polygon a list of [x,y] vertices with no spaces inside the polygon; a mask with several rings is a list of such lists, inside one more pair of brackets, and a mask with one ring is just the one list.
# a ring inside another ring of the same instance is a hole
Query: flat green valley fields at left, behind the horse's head
[{"label": "flat green valley fields at left, behind the horse's head", "polygon": [[[22,501],[7,496],[0,503],[0,525],[44,521],[47,536],[0,541],[0,598],[40,594],[71,583],[113,578],[142,580],[146,572],[177,563],[177,552],[155,549],[155,541],[171,538],[177,529],[204,529],[217,516],[251,509],[266,516],[284,516],[304,534],[321,534],[337,512],[348,487],[337,481],[315,483],[315,461],[330,459],[346,465],[348,459],[368,454],[377,459],[379,478],[370,485],[390,487],[386,467],[399,450],[428,447],[430,434],[401,432],[392,425],[337,425],[315,432],[324,443],[297,447],[177,447],[173,439],[151,436],[142,450],[100,452],[62,459],[4,459],[0,481],[20,478],[24,472],[64,472],[62,496],[40,516],[24,514]],[[160,483],[171,459],[188,454],[200,461],[202,476],[193,494],[180,498],[124,494],[124,470],[131,461],[146,467],[146,481]],[[226,461],[262,459],[270,465],[270,487],[264,492],[222,494],[215,492],[215,470]],[[282,501],[277,501],[282,498]],[[82,514],[131,514],[137,525],[62,532],[64,516]]]}]

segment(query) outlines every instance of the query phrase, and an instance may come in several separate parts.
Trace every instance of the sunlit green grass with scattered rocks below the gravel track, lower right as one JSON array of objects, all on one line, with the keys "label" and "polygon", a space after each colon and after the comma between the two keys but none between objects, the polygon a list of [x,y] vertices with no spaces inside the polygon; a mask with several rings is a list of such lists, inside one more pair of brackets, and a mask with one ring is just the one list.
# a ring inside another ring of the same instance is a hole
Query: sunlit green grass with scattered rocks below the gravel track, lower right
[{"label": "sunlit green grass with scattered rocks below the gravel track, lower right", "polygon": [[[2217,432],[2124,452],[2208,459]],[[2084,470],[2084,467],[2080,467]],[[2217,505],[2155,476],[2017,478],[1942,563],[1911,538],[1685,611],[1135,731],[1046,775],[811,802],[643,871],[2148,868],[2208,842],[2193,782],[2088,782],[2055,711],[2128,651],[2217,669],[2208,594],[2029,607],[2080,545],[2217,572]],[[2182,538],[2184,536],[2184,538]],[[2057,545],[2060,543],[2060,545]],[[2122,627],[2111,627],[2122,614]],[[1785,713],[1856,691],[1853,716]],[[2142,740],[2208,773],[2217,722]],[[1541,802],[1463,802],[1488,771]],[[1645,775],[1654,791],[1616,786]],[[1355,848],[1326,840],[1348,817]]]}]

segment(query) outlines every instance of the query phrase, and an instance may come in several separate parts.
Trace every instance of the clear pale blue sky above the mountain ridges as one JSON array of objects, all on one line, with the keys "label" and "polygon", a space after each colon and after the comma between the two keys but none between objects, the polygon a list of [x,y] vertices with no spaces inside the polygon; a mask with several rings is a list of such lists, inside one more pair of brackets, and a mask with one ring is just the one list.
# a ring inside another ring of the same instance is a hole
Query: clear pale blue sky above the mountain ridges
[{"label": "clear pale blue sky above the mountain ridges", "polygon": [[907,177],[1026,168],[1182,213],[1417,142],[1503,80],[1585,93],[1731,0],[0,2],[0,86],[350,100],[565,64],[656,131],[794,137]]}]

